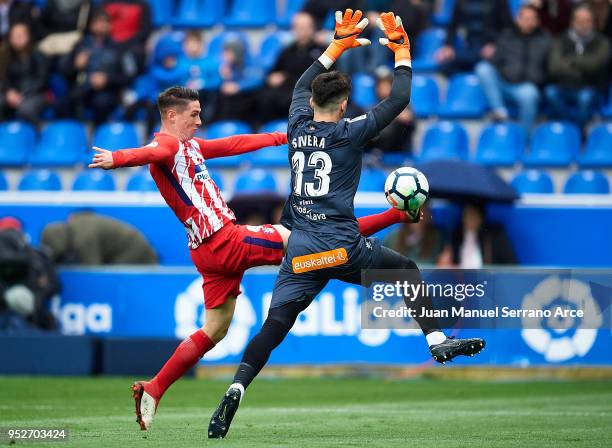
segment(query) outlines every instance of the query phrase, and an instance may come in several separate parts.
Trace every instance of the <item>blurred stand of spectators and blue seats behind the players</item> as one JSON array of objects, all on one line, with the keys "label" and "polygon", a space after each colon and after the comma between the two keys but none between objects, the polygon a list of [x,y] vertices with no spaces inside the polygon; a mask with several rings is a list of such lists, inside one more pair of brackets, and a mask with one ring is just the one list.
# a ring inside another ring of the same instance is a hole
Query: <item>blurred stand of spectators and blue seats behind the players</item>
[{"label": "blurred stand of spectators and blue seats behind the players", "polygon": [[[412,104],[371,142],[374,165],[612,166],[609,0],[0,0],[0,166],[78,166],[92,142],[139,146],[158,126],[157,93],[175,84],[200,91],[208,138],[283,130],[296,80],[346,7],[367,11],[374,42],[338,64],[353,77],[349,117],[390,91],[379,12],[400,15],[412,39]],[[520,190],[559,190],[527,174]],[[587,178],[607,192],[605,173]],[[0,188],[32,182],[58,188],[27,177]]]}]

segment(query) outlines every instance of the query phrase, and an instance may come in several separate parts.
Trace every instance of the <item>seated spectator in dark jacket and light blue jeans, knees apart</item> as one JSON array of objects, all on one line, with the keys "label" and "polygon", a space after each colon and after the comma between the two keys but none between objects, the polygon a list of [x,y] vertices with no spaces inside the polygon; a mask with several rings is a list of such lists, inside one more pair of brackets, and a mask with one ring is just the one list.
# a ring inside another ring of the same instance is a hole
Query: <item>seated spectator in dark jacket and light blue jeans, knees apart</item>
[{"label": "seated spectator in dark jacket and light blue jeans, knees apart", "polygon": [[540,87],[546,82],[550,38],[539,28],[538,13],[523,5],[516,26],[497,38],[491,61],[476,65],[485,95],[495,120],[509,117],[506,101],[518,106],[521,125],[529,135],[537,118]]}]

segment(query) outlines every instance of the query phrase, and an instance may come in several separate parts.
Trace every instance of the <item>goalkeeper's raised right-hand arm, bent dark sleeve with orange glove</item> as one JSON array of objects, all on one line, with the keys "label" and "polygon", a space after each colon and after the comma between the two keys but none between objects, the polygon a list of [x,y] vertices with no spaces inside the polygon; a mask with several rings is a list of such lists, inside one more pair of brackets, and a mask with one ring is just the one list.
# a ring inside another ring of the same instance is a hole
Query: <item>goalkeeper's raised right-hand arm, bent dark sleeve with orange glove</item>
[{"label": "goalkeeper's raised right-hand arm, bent dark sleeve with orange glove", "polygon": [[404,30],[402,19],[392,12],[380,15],[376,20],[378,27],[384,31],[381,45],[389,48],[395,55],[395,71],[393,84],[388,98],[378,103],[372,113],[376,118],[378,130],[381,131],[397,117],[410,102],[410,86],[412,82],[412,62],[410,42]]}]

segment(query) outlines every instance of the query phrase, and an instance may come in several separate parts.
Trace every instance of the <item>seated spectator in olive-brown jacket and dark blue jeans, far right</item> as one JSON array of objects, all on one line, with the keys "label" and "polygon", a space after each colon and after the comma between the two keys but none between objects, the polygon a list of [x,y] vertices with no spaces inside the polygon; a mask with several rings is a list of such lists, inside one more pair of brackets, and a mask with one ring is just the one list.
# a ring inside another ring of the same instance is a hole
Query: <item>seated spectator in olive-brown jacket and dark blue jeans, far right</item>
[{"label": "seated spectator in olive-brown jacket and dark blue jeans, far right", "polygon": [[554,84],[546,87],[545,94],[551,116],[573,121],[584,131],[600,103],[609,62],[610,42],[595,29],[593,11],[578,6],[570,29],[557,38],[548,61]]}]

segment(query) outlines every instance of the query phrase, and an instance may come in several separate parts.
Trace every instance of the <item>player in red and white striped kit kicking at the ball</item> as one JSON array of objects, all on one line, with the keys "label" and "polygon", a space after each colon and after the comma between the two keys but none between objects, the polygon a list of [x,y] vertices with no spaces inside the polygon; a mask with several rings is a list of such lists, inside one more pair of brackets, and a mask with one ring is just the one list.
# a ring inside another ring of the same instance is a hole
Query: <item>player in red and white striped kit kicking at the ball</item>
[{"label": "player in red and white striped kit kicking at the ball", "polygon": [[[246,134],[204,140],[194,137],[201,126],[196,90],[171,87],[157,99],[161,130],[142,148],[107,151],[94,147],[90,168],[114,169],[149,164],[159,192],[185,226],[191,259],[203,278],[204,326],[185,339],[150,381],[132,386],[137,422],[150,428],[157,405],[166,390],[206,352],[221,341],[234,315],[244,271],[281,263],[290,231],[282,225],[258,227],[234,223],[206,168],[206,160],[255,151],[287,143],[287,135]],[[396,209],[359,219],[359,230],[371,235],[409,217]]]}]

